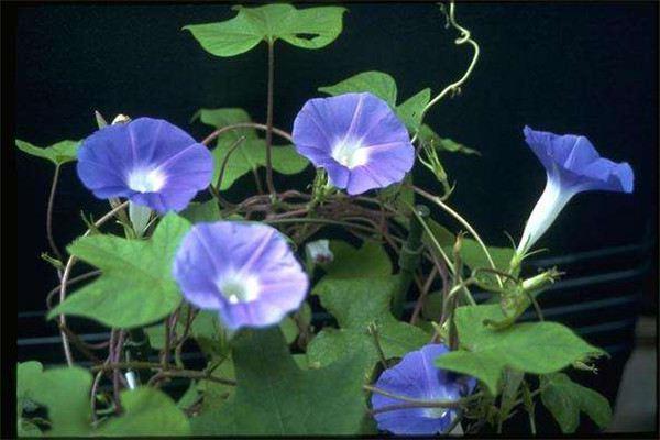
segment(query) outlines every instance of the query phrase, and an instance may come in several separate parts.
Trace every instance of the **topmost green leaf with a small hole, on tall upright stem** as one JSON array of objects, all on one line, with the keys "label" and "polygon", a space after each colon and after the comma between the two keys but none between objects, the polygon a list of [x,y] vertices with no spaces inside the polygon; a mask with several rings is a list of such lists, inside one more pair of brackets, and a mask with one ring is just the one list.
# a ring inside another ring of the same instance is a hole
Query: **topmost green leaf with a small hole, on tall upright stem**
[{"label": "topmost green leaf with a small hole, on tall upright stem", "polygon": [[199,44],[216,56],[234,56],[250,51],[261,41],[285,42],[302,48],[321,48],[342,31],[344,8],[320,7],[298,10],[290,4],[256,8],[235,7],[233,19],[184,26]]}]

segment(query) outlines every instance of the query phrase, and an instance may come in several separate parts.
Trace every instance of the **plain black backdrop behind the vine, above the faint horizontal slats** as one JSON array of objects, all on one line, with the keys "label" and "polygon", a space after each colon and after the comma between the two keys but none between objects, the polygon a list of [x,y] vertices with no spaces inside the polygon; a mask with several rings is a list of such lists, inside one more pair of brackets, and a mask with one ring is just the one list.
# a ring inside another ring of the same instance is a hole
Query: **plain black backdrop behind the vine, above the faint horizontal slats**
[{"label": "plain black backdrop behind the vine, above the faint horizontal slats", "polygon": [[[355,73],[389,73],[405,99],[425,87],[437,92],[470,61],[470,50],[453,45],[455,32],[443,29],[432,3],[345,6],[344,32],[330,46],[276,46],[277,127],[290,130],[302,103],[320,95],[317,87]],[[198,139],[209,129],[189,119],[201,107],[243,107],[263,121],[265,46],[217,58],[182,31],[233,14],[227,4],[19,8],[16,138],[41,146],[81,139],[95,130],[95,109],[107,118],[164,118]],[[503,231],[519,237],[544,185],[522,141],[524,124],[585,134],[604,156],[632,165],[635,194],[576,197],[542,244],[557,254],[642,240],[657,223],[657,4],[460,3],[457,19],[472,31],[482,56],[463,94],[442,101],[428,122],[483,155],[446,156],[458,180],[452,204],[486,241],[506,245]],[[56,284],[38,257],[47,250],[52,167],[23,154],[16,166],[19,309],[38,310]],[[66,165],[54,213],[61,246],[84,230],[81,209],[98,217],[107,205]]]}]

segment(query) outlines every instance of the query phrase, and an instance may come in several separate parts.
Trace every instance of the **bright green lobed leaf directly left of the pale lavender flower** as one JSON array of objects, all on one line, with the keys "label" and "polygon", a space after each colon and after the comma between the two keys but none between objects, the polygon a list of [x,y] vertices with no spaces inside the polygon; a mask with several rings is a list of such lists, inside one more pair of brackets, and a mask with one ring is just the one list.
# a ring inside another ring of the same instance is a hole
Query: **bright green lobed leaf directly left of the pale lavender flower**
[{"label": "bright green lobed leaf directly left of the pale lavender flower", "polygon": [[125,329],[169,315],[182,300],[172,277],[172,262],[189,228],[187,220],[169,213],[150,240],[111,235],[78,239],[68,251],[101,268],[102,275],[55,307],[48,319],[73,315]]}]

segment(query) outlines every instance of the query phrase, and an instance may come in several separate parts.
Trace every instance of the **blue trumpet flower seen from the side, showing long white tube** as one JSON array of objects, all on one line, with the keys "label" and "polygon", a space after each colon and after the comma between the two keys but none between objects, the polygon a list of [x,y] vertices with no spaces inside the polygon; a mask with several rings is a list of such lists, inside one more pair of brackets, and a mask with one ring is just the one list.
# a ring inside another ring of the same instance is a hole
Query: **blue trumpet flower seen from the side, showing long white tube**
[{"label": "blue trumpet flower seen from the side, showing long white tube", "polygon": [[601,157],[585,136],[559,135],[529,127],[524,132],[525,141],[546,167],[548,183],[527,220],[517,254],[536,243],[578,193],[632,193],[635,177],[630,165]]}]

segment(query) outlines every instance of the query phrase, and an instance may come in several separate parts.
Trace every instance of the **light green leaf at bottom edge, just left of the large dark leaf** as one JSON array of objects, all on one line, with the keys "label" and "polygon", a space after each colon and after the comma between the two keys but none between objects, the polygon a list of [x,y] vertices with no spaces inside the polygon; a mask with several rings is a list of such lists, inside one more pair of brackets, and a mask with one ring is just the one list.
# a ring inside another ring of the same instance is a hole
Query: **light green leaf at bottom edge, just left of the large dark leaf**
[{"label": "light green leaf at bottom edge, just left of the large dark leaf", "polygon": [[121,394],[124,414],[108,420],[95,435],[111,437],[189,436],[188,418],[169,396],[154,388],[138,388]]}]

